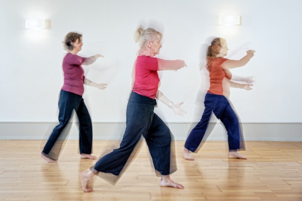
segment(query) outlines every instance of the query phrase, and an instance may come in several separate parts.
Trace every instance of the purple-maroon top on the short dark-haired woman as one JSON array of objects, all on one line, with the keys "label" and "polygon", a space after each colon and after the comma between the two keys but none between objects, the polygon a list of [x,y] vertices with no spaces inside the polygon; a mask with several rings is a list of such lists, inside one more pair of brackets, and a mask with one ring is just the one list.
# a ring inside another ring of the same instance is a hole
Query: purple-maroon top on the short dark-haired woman
[{"label": "purple-maroon top on the short dark-haired woman", "polygon": [[63,59],[64,84],[62,90],[78,95],[84,93],[84,69],[82,63],[85,57],[68,52]]}]

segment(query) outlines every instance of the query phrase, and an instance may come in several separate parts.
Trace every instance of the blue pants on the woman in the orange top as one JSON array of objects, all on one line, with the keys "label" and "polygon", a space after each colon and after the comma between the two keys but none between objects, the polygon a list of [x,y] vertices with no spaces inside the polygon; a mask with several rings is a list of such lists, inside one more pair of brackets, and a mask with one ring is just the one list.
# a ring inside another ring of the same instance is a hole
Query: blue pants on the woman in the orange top
[{"label": "blue pants on the woman in the orange top", "polygon": [[223,123],[226,131],[228,132],[229,150],[237,150],[242,147],[241,129],[238,118],[233,111],[228,99],[223,95],[206,93],[204,99],[204,112],[200,122],[193,128],[185,142],[185,148],[194,152],[202,138],[209,124],[212,112]]}]

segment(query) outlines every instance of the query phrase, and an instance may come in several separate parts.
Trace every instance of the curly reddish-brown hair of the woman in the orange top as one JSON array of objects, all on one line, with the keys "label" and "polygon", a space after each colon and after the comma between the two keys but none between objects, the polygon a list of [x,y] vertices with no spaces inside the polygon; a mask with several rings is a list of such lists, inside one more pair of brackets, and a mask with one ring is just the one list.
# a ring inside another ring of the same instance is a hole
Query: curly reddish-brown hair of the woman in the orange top
[{"label": "curly reddish-brown hair of the woman in the orange top", "polygon": [[206,69],[211,70],[211,65],[213,61],[217,60],[216,55],[219,54],[221,49],[221,42],[225,42],[223,38],[214,38],[211,42],[211,45],[208,47],[206,52]]}]

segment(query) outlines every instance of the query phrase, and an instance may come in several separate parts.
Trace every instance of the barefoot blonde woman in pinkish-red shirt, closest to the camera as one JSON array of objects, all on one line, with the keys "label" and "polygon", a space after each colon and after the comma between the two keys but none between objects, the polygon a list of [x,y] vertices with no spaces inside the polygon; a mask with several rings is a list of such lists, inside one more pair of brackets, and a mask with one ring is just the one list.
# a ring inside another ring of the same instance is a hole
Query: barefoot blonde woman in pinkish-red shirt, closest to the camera
[{"label": "barefoot blonde woman in pinkish-red shirt, closest to the camera", "polygon": [[167,125],[154,113],[156,99],[169,106],[178,115],[183,115],[182,103],[172,103],[158,90],[160,79],[158,70],[178,70],[185,65],[183,60],[163,60],[155,58],[162,47],[162,34],[154,29],[136,30],[136,42],[140,45],[132,73],[133,89],[129,97],[126,112],[126,130],[118,149],[103,156],[90,169],[80,173],[82,188],[91,192],[88,187],[90,179],[99,172],[119,175],[130,157],[141,135],[145,138],[153,160],[154,167],[161,175],[161,186],[184,188],[174,182],[170,174],[176,171],[171,163],[172,134]]}]

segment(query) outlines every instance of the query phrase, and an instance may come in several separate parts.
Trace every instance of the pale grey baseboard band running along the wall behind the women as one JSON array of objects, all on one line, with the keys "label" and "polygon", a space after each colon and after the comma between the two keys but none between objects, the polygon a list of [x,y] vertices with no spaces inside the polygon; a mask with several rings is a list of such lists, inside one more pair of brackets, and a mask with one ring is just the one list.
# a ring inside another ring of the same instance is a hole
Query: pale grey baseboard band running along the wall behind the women
[{"label": "pale grey baseboard band running along the wall behind the women", "polygon": [[[58,123],[53,122],[0,122],[0,140],[46,140]],[[174,140],[186,140],[188,132],[196,123],[167,123]],[[123,122],[93,123],[94,140],[120,140],[125,131]],[[242,123],[244,139],[247,141],[302,141],[302,123]],[[208,140],[226,140],[221,123],[210,123]],[[65,129],[68,139],[79,139],[77,123]]]}]

